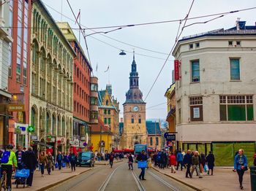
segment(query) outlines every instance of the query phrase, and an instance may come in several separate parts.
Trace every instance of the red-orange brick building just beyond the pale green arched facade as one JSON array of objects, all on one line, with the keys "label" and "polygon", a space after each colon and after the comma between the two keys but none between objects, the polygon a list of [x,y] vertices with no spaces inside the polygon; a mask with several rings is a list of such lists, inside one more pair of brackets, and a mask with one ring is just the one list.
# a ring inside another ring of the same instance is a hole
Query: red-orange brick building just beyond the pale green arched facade
[{"label": "red-orange brick building just beyond the pale green arched facade", "polygon": [[[73,140],[79,141],[79,147],[84,147],[86,150],[89,145],[90,133],[90,104],[94,104],[93,98],[90,98],[91,90],[91,64],[86,58],[78,39],[75,37],[68,23],[57,23],[61,28],[62,33],[71,44],[77,57],[74,60],[73,67]],[[97,104],[97,100],[96,104]]]}]

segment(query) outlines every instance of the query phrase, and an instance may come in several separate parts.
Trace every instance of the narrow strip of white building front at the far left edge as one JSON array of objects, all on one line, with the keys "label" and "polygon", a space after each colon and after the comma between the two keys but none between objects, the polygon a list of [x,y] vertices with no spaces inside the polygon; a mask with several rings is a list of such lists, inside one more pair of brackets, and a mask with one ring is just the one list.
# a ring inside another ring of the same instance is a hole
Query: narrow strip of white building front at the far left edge
[{"label": "narrow strip of white building front at the far left edge", "polygon": [[[12,1],[1,1],[0,6],[0,147],[12,143],[13,122],[7,111],[12,94],[8,90],[8,69],[12,65]],[[8,128],[8,129],[7,129]],[[11,137],[10,137],[11,136]]]}]

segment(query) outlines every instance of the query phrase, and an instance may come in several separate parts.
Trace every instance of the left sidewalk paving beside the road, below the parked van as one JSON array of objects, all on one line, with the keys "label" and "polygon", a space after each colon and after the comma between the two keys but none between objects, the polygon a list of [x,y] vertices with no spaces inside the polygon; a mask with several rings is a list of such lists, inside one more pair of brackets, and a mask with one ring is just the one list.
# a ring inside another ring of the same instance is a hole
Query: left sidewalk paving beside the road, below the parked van
[{"label": "left sidewalk paving beside the road, below the parked van", "polygon": [[[86,171],[90,171],[91,168],[88,167],[76,167],[75,172],[71,172],[71,168],[62,168],[61,171],[54,169],[51,171],[50,175],[45,171],[45,176],[41,177],[41,172],[36,170],[34,172],[34,179],[32,187],[25,187],[23,185],[18,185],[18,189],[16,188],[16,184],[12,184],[12,190],[46,190],[48,187],[53,187],[56,184],[66,181],[67,179],[71,179],[74,176],[78,176],[79,174],[83,174]],[[12,182],[15,180],[12,179]]]}]

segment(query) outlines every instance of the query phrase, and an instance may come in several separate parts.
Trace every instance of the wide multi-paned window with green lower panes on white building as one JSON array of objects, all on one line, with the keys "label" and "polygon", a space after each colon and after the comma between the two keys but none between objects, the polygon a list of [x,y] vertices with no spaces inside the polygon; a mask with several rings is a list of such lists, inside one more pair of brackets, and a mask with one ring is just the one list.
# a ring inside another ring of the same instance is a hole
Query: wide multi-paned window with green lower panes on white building
[{"label": "wide multi-paned window with green lower panes on white building", "polygon": [[252,121],[252,95],[219,96],[219,118],[221,121]]}]

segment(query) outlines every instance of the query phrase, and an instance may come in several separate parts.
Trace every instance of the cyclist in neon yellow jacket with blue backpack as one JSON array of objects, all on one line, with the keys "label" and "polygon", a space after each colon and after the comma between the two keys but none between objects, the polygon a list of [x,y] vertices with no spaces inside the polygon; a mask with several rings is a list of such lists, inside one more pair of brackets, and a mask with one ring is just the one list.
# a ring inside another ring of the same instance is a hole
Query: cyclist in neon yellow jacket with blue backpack
[{"label": "cyclist in neon yellow jacket with blue backpack", "polygon": [[3,171],[7,173],[7,187],[12,189],[12,166],[18,167],[17,158],[15,152],[12,151],[12,144],[7,145],[7,149],[4,151],[1,157],[1,174]]}]

